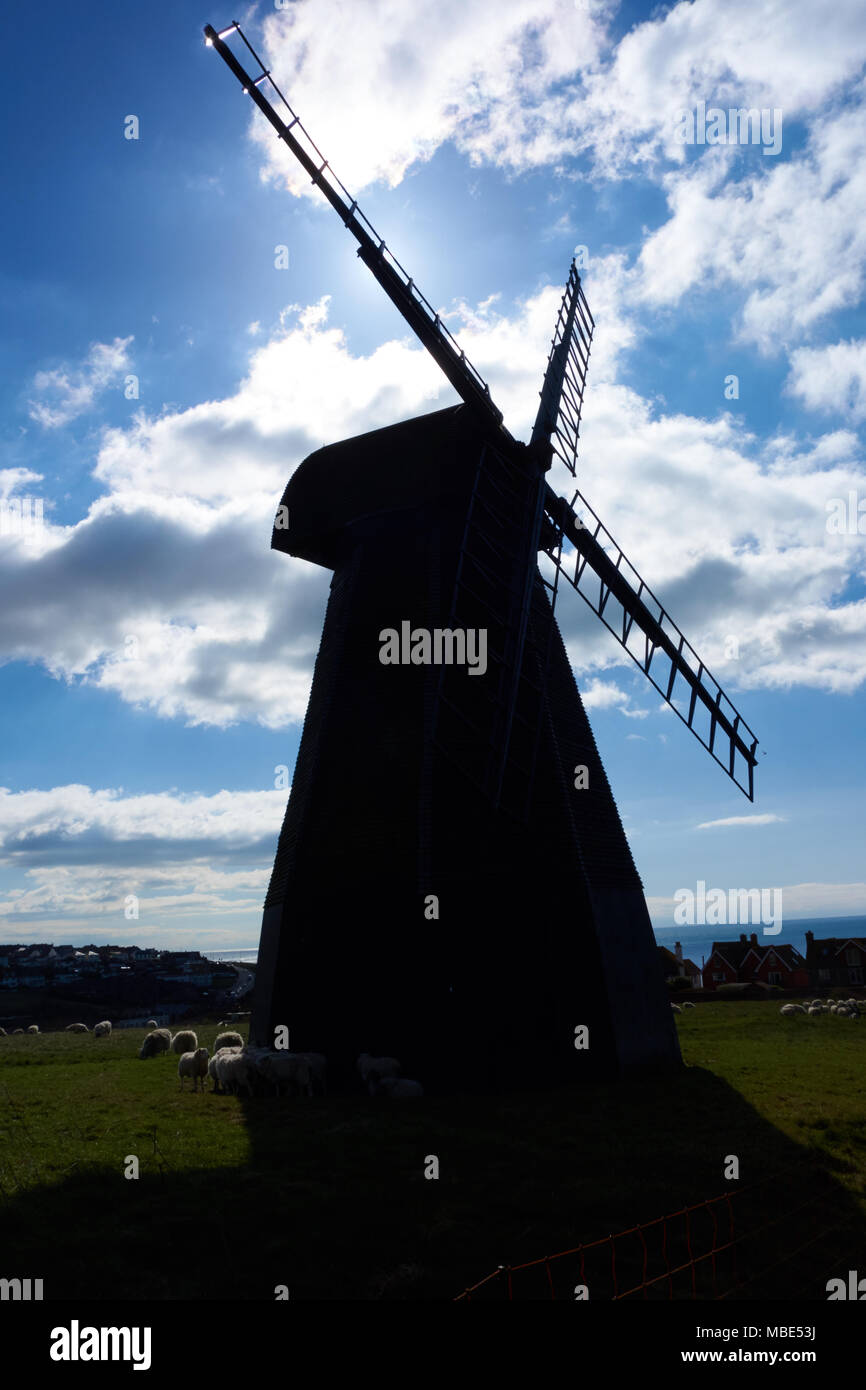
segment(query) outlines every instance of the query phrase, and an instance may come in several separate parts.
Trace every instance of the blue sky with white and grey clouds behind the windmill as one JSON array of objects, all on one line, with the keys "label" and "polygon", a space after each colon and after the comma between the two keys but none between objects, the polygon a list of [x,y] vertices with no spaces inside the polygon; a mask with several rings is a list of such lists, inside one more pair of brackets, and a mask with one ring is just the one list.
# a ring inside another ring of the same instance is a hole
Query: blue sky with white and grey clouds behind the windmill
[{"label": "blue sky with white and grey clouds behind the windmill", "polygon": [[456,400],[235,18],[517,438],[581,257],[577,484],[759,738],[749,803],[560,598],[653,923],[865,913],[862,3],[49,0],[0,92],[0,940],[256,945],[329,584],[275,506]]}]

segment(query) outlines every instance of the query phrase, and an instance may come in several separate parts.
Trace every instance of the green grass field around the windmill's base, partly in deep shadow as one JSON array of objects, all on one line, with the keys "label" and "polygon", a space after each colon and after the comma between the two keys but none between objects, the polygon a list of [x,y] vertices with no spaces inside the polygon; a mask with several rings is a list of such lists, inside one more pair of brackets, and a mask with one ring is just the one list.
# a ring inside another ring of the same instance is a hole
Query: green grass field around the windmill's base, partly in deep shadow
[{"label": "green grass field around the windmill's base, partly in deep shadow", "polygon": [[[677,1026],[674,1076],[403,1105],[182,1094],[177,1058],[138,1061],[143,1030],[0,1038],[0,1273],[46,1298],[235,1297],[243,1270],[247,1298],[439,1300],[727,1191],[738,1264],[698,1294],[826,1298],[866,1270],[866,1019],[714,1002]],[[514,1293],[549,1297],[530,1276]]]}]

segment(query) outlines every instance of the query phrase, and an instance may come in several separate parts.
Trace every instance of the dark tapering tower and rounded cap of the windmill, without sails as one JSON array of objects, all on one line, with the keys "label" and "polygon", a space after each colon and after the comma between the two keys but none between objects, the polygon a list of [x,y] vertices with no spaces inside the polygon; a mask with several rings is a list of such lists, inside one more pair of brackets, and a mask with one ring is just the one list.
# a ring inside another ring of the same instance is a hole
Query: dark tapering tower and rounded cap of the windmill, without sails
[{"label": "dark tapering tower and rounded cap of the windmill, without sails", "polygon": [[[399,1056],[428,1087],[678,1059],[641,883],[559,632],[525,821],[467,777],[480,762],[468,726],[463,746],[459,727],[434,733],[442,667],[379,660],[385,628],[450,627],[484,446],[457,406],[325,448],[293,475],[289,527],[274,531],[334,580],[252,1031],[265,1044],[288,1024],[292,1047],[327,1052],[338,1081],[363,1051]],[[532,600],[530,669],[552,623],[541,578]],[[460,617],[492,626],[481,603]],[[495,671],[448,676],[464,714]],[[581,1026],[588,1047],[575,1047]]]}]

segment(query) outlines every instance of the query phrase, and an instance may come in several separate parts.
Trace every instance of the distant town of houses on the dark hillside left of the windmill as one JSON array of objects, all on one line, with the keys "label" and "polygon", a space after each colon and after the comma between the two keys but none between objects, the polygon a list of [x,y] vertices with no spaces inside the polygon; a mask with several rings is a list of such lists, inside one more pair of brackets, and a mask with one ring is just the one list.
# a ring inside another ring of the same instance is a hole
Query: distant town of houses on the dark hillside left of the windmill
[{"label": "distant town of houses on the dark hillside left of the windmill", "polygon": [[182,1017],[220,1012],[252,988],[253,970],[209,960],[200,951],[156,947],[0,945],[0,1016],[32,1015],[46,1022],[75,1006],[107,1012],[115,1026],[138,1026],[149,1016]]}]

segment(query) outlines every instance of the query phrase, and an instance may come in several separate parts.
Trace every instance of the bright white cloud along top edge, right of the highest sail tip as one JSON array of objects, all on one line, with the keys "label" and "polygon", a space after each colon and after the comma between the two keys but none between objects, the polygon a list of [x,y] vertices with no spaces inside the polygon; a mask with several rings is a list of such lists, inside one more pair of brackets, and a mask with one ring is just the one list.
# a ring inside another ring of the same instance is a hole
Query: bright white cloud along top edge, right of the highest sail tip
[{"label": "bright white cloud along top edge, right of the highest sail tip", "polygon": [[[366,0],[350,8],[296,0],[265,19],[264,60],[359,193],[378,179],[399,182],[446,142],[471,163],[509,171],[567,170],[584,154],[607,175],[635,165],[655,172],[684,158],[680,110],[705,100],[808,118],[858,78],[866,54],[859,0],[840,0],[831,22],[812,0],[784,10],[773,0],[695,0],[637,24],[619,43],[614,14],[603,0]],[[310,192],[257,113],[252,131],[264,177]]]}]

